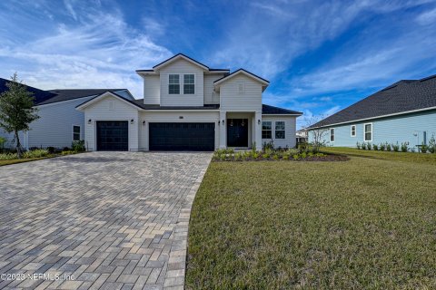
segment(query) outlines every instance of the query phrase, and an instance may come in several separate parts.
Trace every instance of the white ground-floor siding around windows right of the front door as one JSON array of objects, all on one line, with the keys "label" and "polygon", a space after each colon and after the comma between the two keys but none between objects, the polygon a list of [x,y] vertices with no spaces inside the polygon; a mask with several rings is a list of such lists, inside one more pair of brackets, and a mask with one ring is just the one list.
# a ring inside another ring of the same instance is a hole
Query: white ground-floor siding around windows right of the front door
[{"label": "white ground-floor siding around windows right of the front door", "polygon": [[[262,116],[262,121],[272,121],[272,141],[274,142],[274,147],[293,148],[296,145],[296,118],[277,116],[269,117],[267,115]],[[284,121],[284,139],[275,139],[275,121]],[[261,126],[262,127],[262,126]],[[262,133],[262,132],[261,132]],[[271,139],[263,139],[262,142],[270,142]]]}]

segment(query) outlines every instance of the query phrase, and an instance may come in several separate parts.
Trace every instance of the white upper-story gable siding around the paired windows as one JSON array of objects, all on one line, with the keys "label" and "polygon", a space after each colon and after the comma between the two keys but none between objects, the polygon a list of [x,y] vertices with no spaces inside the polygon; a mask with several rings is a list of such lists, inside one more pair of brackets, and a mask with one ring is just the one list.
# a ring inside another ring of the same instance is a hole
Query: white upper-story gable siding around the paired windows
[{"label": "white upper-story gable siding around the paired windows", "polygon": [[[195,93],[183,94],[183,74],[195,75]],[[180,75],[180,94],[168,93],[169,74]],[[203,106],[204,81],[203,69],[185,60],[178,60],[168,64],[160,71],[161,80],[161,106]]]}]

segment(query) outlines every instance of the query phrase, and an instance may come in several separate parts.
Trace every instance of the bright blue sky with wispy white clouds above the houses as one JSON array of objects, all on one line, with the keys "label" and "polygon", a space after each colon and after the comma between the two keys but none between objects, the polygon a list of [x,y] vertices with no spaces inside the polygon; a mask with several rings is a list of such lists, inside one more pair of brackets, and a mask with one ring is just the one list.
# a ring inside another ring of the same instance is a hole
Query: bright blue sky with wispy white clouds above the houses
[{"label": "bright blue sky with wispy white clouds above the houses", "polygon": [[0,77],[127,88],[174,53],[270,80],[264,103],[326,116],[436,73],[435,1],[1,1]]}]

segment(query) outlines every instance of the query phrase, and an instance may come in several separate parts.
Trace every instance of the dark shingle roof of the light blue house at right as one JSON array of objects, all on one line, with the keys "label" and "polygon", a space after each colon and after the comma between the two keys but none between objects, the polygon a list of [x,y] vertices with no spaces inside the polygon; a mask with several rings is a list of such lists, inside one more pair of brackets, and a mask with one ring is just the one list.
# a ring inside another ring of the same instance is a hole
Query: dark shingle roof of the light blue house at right
[{"label": "dark shingle roof of the light blue house at right", "polygon": [[436,74],[421,80],[395,82],[362,101],[313,124],[310,128],[431,107],[436,107]]}]

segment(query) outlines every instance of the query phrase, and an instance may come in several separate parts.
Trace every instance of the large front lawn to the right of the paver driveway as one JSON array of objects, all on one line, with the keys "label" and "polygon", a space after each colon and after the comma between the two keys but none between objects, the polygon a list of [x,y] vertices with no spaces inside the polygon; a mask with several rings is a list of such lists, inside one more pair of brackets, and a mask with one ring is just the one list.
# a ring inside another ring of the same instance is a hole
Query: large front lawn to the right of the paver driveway
[{"label": "large front lawn to the right of the paver driveway", "polygon": [[436,288],[436,167],[417,162],[211,163],[187,289]]}]

